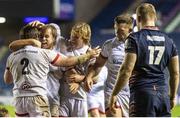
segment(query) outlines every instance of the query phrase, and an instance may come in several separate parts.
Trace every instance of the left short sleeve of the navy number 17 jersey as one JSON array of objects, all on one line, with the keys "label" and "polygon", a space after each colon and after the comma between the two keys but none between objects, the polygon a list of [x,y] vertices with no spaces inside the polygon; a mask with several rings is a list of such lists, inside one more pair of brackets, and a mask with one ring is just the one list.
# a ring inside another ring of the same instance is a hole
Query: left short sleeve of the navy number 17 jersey
[{"label": "left short sleeve of the navy number 17 jersey", "polygon": [[137,53],[137,45],[135,38],[130,34],[125,42],[125,52],[126,53]]}]

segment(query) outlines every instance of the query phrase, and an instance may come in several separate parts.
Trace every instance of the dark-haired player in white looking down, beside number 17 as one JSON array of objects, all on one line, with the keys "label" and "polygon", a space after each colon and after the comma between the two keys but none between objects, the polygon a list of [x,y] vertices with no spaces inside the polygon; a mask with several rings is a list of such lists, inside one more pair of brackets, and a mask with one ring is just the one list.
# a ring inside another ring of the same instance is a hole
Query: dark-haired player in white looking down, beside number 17
[{"label": "dark-haired player in white looking down, beside number 17", "polygon": [[95,64],[89,68],[85,78],[86,90],[89,91],[93,85],[92,78],[99,73],[101,68],[107,63],[108,77],[105,82],[105,108],[107,116],[128,117],[129,113],[129,86],[126,85],[118,94],[116,102],[116,112],[109,110],[109,99],[116,83],[116,76],[122,64],[125,54],[124,42],[132,31],[133,19],[128,14],[122,14],[115,18],[114,29],[115,35],[113,39],[107,40],[102,51],[97,58]]}]

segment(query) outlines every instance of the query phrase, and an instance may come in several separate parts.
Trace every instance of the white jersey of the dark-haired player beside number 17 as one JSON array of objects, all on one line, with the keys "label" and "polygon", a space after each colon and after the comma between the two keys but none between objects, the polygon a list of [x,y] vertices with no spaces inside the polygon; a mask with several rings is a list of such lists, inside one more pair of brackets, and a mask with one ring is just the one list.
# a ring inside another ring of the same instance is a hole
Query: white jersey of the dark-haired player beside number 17
[{"label": "white jersey of the dark-haired player beside number 17", "polygon": [[[107,40],[102,47],[101,55],[108,59],[106,63],[108,77],[105,83],[105,93],[111,95],[119,68],[125,56],[124,42],[119,41],[116,37]],[[129,86],[126,85],[120,91],[120,94],[129,94]]]}]

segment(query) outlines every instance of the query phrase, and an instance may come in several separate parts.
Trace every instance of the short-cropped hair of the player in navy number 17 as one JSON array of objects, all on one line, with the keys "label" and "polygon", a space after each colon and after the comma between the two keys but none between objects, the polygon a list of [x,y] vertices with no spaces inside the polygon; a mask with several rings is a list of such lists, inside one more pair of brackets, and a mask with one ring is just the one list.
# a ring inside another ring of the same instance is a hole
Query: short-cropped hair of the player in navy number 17
[{"label": "short-cropped hair of the player in navy number 17", "polygon": [[136,9],[136,14],[137,17],[143,22],[146,22],[148,19],[156,20],[156,10],[150,3],[143,3],[138,6]]}]

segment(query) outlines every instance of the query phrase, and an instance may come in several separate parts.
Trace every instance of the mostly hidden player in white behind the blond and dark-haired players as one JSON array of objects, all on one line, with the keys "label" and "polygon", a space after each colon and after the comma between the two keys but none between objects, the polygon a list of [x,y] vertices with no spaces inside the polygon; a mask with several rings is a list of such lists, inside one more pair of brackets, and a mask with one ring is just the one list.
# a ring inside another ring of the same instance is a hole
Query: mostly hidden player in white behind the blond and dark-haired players
[{"label": "mostly hidden player in white behind the blond and dark-haired players", "polygon": [[98,75],[98,79],[93,84],[91,91],[88,93],[88,112],[92,117],[105,117],[105,97],[104,97],[104,83],[107,79],[107,67],[104,66]]}]

